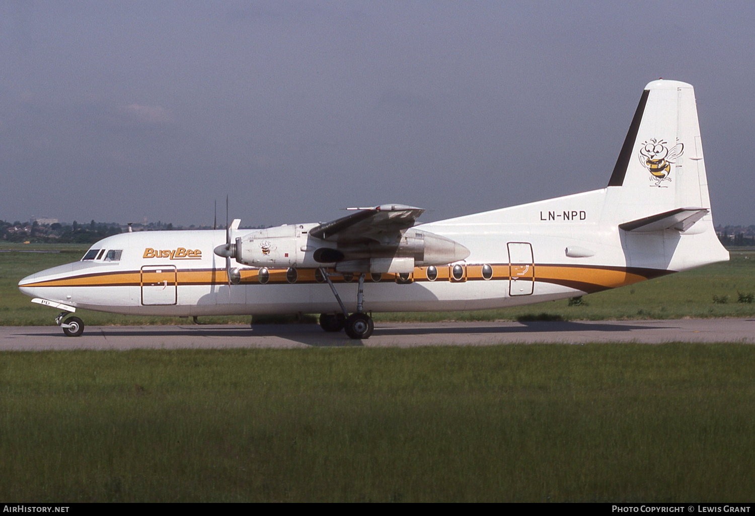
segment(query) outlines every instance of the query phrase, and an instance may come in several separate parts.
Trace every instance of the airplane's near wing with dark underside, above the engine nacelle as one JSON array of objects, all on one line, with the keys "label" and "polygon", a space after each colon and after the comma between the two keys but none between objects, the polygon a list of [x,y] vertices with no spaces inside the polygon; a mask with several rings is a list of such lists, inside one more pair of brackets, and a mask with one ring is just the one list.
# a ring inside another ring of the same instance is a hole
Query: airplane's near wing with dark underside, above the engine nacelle
[{"label": "airplane's near wing with dark underside, above the engine nacelle", "polygon": [[405,204],[382,204],[369,208],[349,208],[356,213],[331,220],[310,229],[310,235],[341,243],[381,240],[386,233],[411,228],[424,213],[422,208]]}]

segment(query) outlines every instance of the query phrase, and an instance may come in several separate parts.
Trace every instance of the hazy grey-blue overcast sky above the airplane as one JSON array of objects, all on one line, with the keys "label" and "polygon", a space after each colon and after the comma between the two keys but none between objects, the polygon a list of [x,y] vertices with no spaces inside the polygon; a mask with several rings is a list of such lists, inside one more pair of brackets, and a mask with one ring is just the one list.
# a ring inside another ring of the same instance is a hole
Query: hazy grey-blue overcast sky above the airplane
[{"label": "hazy grey-blue overcast sky above the airplane", "polygon": [[755,2],[0,2],[0,219],[430,221],[606,186],[695,86],[713,220],[753,224]]}]

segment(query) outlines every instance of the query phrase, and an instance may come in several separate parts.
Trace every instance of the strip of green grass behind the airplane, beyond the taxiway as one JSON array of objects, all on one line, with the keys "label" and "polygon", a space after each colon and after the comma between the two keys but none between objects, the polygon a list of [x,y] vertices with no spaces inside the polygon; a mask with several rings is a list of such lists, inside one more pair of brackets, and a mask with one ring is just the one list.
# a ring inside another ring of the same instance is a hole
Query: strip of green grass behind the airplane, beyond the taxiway
[{"label": "strip of green grass behind the airplane, beyond the taxiway", "polygon": [[[0,324],[51,325],[57,312],[32,305],[18,291],[20,278],[48,267],[79,260],[85,247],[51,244],[3,244],[4,249],[60,250],[60,253],[0,253]],[[652,281],[630,285],[582,298],[581,306],[569,300],[479,312],[417,312],[374,314],[375,321],[513,321],[517,318],[562,318],[564,320],[665,319],[752,317],[755,303],[738,303],[738,294],[755,293],[755,250],[732,250],[732,260]],[[718,303],[714,303],[714,297]],[[724,302],[724,303],[722,303]],[[81,310],[76,313],[87,325],[185,324],[186,319],[137,317]],[[203,318],[215,324],[248,324],[249,317]]]}]

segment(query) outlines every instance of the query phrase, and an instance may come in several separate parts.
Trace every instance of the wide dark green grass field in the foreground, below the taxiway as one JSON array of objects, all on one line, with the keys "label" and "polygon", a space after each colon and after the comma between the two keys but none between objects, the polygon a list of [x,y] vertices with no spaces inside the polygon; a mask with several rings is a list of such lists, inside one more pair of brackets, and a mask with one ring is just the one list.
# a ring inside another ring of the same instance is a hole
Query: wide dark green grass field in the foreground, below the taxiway
[{"label": "wide dark green grass field in the foreground, below the taxiway", "polygon": [[751,502],[755,346],[0,353],[0,499]]}]

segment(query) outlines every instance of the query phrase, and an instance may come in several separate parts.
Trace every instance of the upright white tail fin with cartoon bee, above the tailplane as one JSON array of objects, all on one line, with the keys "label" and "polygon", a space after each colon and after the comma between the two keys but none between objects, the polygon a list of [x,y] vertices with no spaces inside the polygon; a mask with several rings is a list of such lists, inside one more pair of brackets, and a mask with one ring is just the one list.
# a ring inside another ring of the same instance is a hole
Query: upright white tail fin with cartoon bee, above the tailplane
[{"label": "upright white tail fin with cartoon bee, above the tailplane", "polygon": [[645,87],[609,180],[612,186],[621,187],[621,204],[644,208],[630,210],[633,215],[710,209],[692,85],[658,80]]}]

